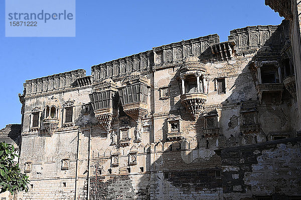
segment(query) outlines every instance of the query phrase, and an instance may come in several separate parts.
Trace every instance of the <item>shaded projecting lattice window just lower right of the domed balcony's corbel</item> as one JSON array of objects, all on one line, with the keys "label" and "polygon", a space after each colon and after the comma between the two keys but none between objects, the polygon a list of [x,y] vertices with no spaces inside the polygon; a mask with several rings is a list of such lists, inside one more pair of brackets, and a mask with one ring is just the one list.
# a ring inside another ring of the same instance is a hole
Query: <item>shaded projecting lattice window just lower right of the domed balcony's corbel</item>
[{"label": "shaded projecting lattice window just lower right of the domed balcony's corbel", "polygon": [[204,117],[204,136],[216,137],[220,135],[220,129],[218,126],[218,113],[216,110],[203,113]]}]

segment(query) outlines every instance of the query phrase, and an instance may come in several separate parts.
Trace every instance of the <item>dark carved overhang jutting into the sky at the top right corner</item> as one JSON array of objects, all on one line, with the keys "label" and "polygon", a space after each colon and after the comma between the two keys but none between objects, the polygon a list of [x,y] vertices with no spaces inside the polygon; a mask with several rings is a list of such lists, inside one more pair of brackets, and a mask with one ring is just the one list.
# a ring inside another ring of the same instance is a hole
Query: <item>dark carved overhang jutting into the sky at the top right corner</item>
[{"label": "dark carved overhang jutting into the sky at the top right corner", "polygon": [[291,0],[265,0],[265,5],[279,13],[280,17],[284,17],[286,20],[290,21],[293,20],[291,13]]}]

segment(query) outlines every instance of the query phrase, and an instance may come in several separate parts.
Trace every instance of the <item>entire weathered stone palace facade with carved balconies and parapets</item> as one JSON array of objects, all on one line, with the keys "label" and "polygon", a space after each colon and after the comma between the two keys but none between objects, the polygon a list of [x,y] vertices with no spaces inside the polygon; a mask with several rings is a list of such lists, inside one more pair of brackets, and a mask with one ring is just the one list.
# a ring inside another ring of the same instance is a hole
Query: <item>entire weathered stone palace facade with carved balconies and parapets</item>
[{"label": "entire weathered stone palace facade with carved balconies and parapets", "polygon": [[281,25],[26,81],[8,198],[301,199],[301,5],[265,3]]}]

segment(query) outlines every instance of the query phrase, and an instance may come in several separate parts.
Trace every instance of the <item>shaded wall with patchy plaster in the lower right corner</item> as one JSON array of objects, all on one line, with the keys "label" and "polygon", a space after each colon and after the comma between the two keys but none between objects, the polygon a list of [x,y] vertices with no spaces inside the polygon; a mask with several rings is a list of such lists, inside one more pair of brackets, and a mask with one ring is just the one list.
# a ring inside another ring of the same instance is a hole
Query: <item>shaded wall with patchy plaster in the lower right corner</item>
[{"label": "shaded wall with patchy plaster in the lower right corner", "polygon": [[301,196],[301,138],[221,150],[224,199]]}]

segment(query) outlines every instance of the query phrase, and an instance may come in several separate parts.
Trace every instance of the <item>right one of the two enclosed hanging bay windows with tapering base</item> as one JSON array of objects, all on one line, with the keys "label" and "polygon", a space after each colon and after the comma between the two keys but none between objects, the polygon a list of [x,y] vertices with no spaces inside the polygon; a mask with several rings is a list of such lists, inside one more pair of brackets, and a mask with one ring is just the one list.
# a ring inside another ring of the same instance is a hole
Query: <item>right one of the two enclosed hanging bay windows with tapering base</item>
[{"label": "right one of the two enclosed hanging bay windows with tapering base", "polygon": [[122,81],[118,88],[123,111],[137,123],[147,115],[148,89],[150,88],[146,77],[134,71],[129,77]]}]

